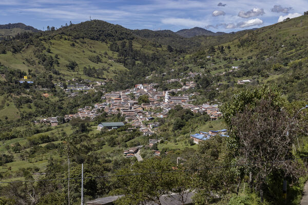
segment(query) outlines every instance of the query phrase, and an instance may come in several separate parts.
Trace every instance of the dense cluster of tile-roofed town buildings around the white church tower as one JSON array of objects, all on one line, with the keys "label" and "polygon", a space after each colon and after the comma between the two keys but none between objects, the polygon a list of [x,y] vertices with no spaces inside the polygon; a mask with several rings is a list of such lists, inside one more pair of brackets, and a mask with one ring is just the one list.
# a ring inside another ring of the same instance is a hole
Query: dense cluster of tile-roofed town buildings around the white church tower
[{"label": "dense cluster of tile-roofed town buildings around the white church tower", "polygon": [[[65,115],[65,120],[72,118],[93,119],[103,112],[109,115],[121,114],[125,116],[125,123],[130,123],[133,128],[139,129],[144,135],[151,136],[159,126],[158,122],[152,122],[151,120],[166,117],[168,111],[176,105],[181,105],[184,109],[190,109],[194,113],[206,112],[211,120],[216,120],[221,116],[218,105],[192,105],[189,97],[198,93],[171,96],[172,90],[158,91],[155,89],[155,85],[137,84],[133,89],[106,93],[102,96],[102,99],[105,100],[104,103],[95,104],[94,107],[86,106],[80,108],[78,113]],[[188,82],[186,85],[195,86],[193,82]],[[148,96],[148,102],[139,104],[138,98],[142,95]],[[149,122],[145,125],[144,121]],[[98,130],[100,129],[98,127]]]}]

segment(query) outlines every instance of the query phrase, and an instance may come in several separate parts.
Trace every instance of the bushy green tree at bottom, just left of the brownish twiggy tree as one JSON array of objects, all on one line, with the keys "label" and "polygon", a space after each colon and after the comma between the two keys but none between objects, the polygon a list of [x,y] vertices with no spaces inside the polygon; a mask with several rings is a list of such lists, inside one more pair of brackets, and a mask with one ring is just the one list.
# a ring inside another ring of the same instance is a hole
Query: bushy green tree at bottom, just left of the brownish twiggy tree
[{"label": "bushy green tree at bottom, just left of the brownish twiggy tree", "polygon": [[236,175],[228,168],[232,156],[228,154],[226,140],[227,137],[212,136],[199,144],[196,153],[183,156],[186,169],[196,174],[194,204],[212,204],[215,197],[223,198],[226,193],[234,192]]}]

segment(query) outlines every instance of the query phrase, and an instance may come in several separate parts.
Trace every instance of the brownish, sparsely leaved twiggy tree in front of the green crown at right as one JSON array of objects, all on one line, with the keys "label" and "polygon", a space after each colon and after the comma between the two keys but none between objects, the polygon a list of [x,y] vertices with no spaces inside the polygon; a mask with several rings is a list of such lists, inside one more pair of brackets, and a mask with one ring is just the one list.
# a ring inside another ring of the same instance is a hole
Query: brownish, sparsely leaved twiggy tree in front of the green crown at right
[{"label": "brownish, sparsely leaved twiggy tree in front of the green crown at right", "polygon": [[272,103],[271,99],[262,99],[255,108],[247,107],[232,119],[239,138],[237,160],[248,164],[259,191],[264,191],[271,173],[300,176],[293,161],[284,161],[294,158],[293,144],[299,130],[293,125],[292,116]]}]

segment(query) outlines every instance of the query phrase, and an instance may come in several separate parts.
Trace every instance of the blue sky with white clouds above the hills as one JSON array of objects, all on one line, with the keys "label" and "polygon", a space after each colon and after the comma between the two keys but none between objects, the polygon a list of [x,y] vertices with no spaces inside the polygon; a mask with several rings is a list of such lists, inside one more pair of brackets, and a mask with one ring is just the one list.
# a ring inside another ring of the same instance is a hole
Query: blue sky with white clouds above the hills
[{"label": "blue sky with white clouds above the hills", "polygon": [[21,22],[43,30],[91,16],[129,29],[232,32],[271,25],[306,10],[307,0],[0,0],[0,24]]}]

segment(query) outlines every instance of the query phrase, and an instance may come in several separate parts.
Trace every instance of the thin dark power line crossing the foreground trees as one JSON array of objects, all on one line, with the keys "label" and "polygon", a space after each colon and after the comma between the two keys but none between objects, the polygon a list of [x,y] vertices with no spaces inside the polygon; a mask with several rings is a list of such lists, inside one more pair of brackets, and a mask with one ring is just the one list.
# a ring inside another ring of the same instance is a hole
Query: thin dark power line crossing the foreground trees
[{"label": "thin dark power line crossing the foreground trees", "polygon": [[[190,169],[190,170],[171,170],[165,172],[146,172],[146,173],[132,173],[132,174],[120,174],[120,175],[105,175],[105,176],[93,176],[93,177],[83,177],[83,179],[98,179],[98,178],[110,178],[110,177],[122,177],[122,176],[139,176],[139,175],[154,175],[154,174],[164,174],[164,173],[176,173],[176,172],[191,172],[191,171],[203,171],[203,170],[211,170],[211,169],[223,169],[223,168],[233,168],[233,167],[245,167],[249,165],[259,165],[260,163],[275,163],[275,162],[284,162],[284,161],[295,161],[299,159],[308,159],[308,157],[300,157],[294,159],[286,159],[286,160],[277,160],[277,161],[269,161],[269,162],[258,162],[258,163],[245,163],[245,164],[237,164],[231,166],[217,166],[217,167],[209,167],[204,169]],[[20,182],[36,182],[36,181],[64,181],[64,180],[80,180],[80,177],[76,178],[62,178],[62,179],[37,179],[37,180],[24,180],[24,181],[0,181],[0,183],[20,183]]]}]

